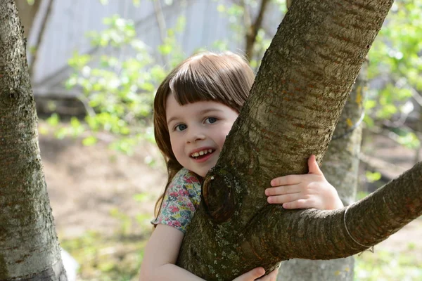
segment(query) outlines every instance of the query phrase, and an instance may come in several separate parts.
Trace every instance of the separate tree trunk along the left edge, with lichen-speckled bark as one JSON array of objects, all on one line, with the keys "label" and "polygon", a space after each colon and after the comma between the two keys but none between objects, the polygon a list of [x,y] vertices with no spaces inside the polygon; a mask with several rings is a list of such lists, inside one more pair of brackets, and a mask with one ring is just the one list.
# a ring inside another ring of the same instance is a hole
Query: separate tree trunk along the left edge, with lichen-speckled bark
[{"label": "separate tree trunk along the left edge, with lichen-speckled bark", "polygon": [[0,1],[0,21],[0,280],[66,280],[13,1]]}]

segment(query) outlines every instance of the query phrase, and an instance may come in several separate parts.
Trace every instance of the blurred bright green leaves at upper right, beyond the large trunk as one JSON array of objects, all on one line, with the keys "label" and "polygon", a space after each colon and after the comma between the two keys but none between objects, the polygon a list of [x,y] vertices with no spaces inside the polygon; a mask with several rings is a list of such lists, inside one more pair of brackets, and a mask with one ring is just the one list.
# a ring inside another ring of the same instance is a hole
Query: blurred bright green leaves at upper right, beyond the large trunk
[{"label": "blurred bright green leaves at upper right, beyond the large trunk", "polygon": [[389,136],[408,148],[420,145],[414,130],[404,127],[404,122],[414,111],[411,97],[422,93],[421,10],[421,1],[395,1],[369,52],[373,88],[366,100],[366,125],[393,128]]}]

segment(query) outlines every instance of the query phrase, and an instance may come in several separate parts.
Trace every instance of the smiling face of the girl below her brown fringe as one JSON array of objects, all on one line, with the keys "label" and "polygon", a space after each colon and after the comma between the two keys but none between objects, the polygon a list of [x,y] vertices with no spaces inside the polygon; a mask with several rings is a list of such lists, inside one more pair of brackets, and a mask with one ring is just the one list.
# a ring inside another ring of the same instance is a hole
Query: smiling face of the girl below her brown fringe
[{"label": "smiling face of the girl below her brown fringe", "polygon": [[238,112],[213,101],[179,105],[170,94],[167,97],[166,115],[170,142],[177,161],[204,177],[217,164]]}]

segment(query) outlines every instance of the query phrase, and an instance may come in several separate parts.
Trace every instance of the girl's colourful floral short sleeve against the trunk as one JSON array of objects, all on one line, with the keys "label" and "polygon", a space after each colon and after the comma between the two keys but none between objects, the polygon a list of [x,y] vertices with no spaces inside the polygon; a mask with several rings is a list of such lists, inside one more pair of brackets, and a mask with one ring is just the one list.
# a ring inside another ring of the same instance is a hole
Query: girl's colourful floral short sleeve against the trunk
[{"label": "girl's colourful floral short sleeve against the trunk", "polygon": [[160,214],[153,224],[165,224],[186,233],[189,223],[200,203],[198,176],[188,169],[181,169],[174,176],[162,200]]}]

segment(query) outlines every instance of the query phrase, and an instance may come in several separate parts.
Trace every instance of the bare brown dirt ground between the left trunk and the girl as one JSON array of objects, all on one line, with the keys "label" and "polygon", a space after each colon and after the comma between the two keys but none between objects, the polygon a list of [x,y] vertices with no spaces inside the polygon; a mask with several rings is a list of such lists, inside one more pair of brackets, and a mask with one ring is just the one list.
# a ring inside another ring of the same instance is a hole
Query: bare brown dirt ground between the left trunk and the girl
[{"label": "bare brown dirt ground between the left trunk and the girl", "polygon": [[[155,145],[143,144],[132,157],[105,143],[87,147],[80,140],[52,136],[39,136],[39,146],[59,237],[78,237],[87,230],[113,232],[120,223],[110,216],[116,208],[128,216],[152,218],[167,179],[162,163],[159,168],[144,163],[151,155],[160,162]],[[134,195],[139,194],[147,194],[147,200],[136,202]]]}]

